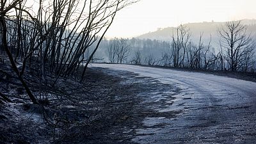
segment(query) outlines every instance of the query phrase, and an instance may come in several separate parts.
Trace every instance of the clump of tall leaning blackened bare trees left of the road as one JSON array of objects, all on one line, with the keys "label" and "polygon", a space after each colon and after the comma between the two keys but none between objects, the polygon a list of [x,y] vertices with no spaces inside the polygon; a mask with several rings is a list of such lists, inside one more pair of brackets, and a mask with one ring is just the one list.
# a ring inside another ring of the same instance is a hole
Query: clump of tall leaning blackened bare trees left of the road
[{"label": "clump of tall leaning blackened bare trees left of the road", "polygon": [[[116,12],[135,2],[50,0],[38,1],[32,9],[28,1],[1,0],[1,46],[30,99],[37,103],[22,78],[27,68],[36,66],[38,77],[45,85],[49,85],[47,79],[52,79],[49,75],[54,76],[55,81],[50,84],[54,86],[59,77],[74,75],[81,61],[86,61],[80,73],[83,80],[86,67],[113,23]],[[84,52],[89,47],[92,51],[84,60]],[[17,67],[17,62],[22,65]]]}]

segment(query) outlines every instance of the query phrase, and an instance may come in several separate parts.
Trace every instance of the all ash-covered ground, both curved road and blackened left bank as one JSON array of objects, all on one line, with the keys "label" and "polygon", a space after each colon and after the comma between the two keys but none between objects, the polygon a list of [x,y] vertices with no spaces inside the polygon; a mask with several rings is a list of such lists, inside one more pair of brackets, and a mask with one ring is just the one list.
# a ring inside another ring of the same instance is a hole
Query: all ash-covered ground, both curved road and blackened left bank
[{"label": "all ash-covered ground, both curved road and blackened left bank", "polygon": [[[13,102],[0,101],[0,143],[256,142],[253,82],[93,65],[83,83],[60,79],[52,87],[40,84],[31,71],[24,79],[40,100],[37,105],[10,67],[1,68],[1,93]],[[227,81],[221,84],[222,79]]]}]

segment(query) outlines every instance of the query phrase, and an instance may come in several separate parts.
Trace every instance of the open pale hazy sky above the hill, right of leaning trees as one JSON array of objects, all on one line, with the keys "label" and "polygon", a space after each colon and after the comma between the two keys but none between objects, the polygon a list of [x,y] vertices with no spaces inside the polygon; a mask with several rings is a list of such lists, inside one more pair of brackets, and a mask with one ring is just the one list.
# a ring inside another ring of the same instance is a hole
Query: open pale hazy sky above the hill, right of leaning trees
[{"label": "open pale hazy sky above the hill, right of leaning trees", "polygon": [[256,0],[141,0],[116,15],[108,37],[138,36],[188,22],[256,19]]}]

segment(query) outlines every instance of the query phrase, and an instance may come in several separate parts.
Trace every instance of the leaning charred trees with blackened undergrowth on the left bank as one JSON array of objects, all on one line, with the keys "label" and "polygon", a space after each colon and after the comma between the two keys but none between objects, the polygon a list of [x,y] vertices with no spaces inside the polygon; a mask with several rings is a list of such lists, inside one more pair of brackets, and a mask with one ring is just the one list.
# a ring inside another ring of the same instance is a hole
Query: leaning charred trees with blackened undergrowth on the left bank
[{"label": "leaning charred trees with blackened undergrowth on the left bank", "polygon": [[0,143],[85,141],[120,92],[88,64],[116,13],[136,1],[0,2]]}]

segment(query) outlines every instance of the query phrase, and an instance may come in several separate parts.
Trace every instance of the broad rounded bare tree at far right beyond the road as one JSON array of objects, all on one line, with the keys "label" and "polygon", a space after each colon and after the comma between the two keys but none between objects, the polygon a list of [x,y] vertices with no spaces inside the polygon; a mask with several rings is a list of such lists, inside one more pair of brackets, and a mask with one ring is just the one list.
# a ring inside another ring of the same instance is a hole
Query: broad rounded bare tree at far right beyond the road
[{"label": "broad rounded bare tree at far right beyond the road", "polygon": [[255,44],[250,35],[246,33],[246,26],[241,21],[226,22],[218,33],[220,35],[221,51],[230,71],[241,70],[250,65]]}]

